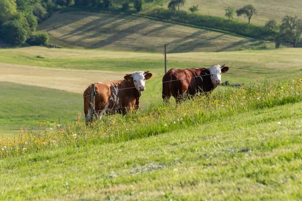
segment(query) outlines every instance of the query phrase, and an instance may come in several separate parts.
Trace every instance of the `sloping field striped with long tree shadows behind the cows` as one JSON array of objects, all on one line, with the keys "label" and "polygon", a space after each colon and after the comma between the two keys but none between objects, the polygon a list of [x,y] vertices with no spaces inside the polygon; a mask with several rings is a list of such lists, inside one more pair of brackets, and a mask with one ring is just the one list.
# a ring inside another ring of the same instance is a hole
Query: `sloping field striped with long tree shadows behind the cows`
[{"label": "sloping field striped with long tree shadows behind the cows", "polygon": [[[50,42],[63,47],[170,53],[228,51],[260,46],[261,41],[142,17],[89,12],[55,13],[39,25]],[[272,43],[266,44],[273,47]]]}]

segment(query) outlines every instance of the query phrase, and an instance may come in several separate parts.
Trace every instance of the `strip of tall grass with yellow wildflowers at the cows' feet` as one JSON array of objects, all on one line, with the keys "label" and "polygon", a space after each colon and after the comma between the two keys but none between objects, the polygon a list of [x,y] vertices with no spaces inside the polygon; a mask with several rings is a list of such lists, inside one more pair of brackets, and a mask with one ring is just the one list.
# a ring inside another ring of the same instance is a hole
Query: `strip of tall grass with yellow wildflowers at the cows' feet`
[{"label": "strip of tall grass with yellow wildflowers at the cows' feet", "polygon": [[221,87],[211,94],[192,97],[182,104],[157,99],[125,116],[104,116],[86,126],[79,117],[73,125],[52,125],[39,133],[20,131],[15,138],[0,138],[0,158],[60,146],[86,146],[121,142],[179,130],[257,109],[302,101],[302,79],[288,82],[256,81],[242,87]]}]

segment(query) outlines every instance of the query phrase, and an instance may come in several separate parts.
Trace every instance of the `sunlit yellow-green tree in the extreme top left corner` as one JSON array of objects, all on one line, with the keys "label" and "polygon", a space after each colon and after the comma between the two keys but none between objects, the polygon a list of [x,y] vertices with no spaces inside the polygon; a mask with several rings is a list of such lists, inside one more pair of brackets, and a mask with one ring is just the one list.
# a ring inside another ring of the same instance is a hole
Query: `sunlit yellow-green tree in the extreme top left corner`
[{"label": "sunlit yellow-green tree in the extreme top left corner", "polygon": [[17,13],[17,4],[14,0],[0,0],[0,26],[11,20]]}]

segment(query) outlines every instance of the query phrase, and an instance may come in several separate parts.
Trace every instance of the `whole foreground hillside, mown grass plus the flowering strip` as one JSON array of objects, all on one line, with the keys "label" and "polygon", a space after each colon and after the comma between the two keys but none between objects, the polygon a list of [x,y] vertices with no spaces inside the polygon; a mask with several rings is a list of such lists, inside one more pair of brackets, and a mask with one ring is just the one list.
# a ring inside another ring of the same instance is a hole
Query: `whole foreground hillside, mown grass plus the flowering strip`
[{"label": "whole foreground hillside, mown grass plus the flowering strip", "polygon": [[88,128],[23,133],[0,150],[0,199],[299,200],[299,81],[155,103]]}]

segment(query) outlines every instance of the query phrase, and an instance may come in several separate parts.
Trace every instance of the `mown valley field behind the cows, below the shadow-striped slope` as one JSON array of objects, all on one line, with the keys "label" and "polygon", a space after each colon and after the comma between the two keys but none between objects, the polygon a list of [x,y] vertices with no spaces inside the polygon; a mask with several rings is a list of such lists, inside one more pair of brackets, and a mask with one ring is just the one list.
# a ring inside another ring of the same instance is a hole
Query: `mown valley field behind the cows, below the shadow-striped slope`
[{"label": "mown valley field behind the cows, below the shadow-striped slope", "polygon": [[[288,80],[301,76],[301,54],[301,49],[175,53],[168,54],[168,69],[226,63],[230,70],[223,74],[222,82],[249,84],[263,77]],[[39,129],[47,121],[58,124],[59,118],[60,123],[70,123],[78,112],[83,116],[82,94],[90,83],[123,79],[125,73],[136,70],[154,74],[146,82],[141,106],[160,99],[164,58],[159,53],[28,47],[0,50],[0,70],[0,92],[5,100],[0,130],[12,135],[17,131],[11,129]]]}]

